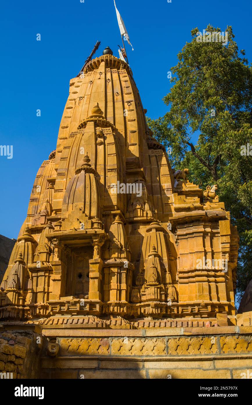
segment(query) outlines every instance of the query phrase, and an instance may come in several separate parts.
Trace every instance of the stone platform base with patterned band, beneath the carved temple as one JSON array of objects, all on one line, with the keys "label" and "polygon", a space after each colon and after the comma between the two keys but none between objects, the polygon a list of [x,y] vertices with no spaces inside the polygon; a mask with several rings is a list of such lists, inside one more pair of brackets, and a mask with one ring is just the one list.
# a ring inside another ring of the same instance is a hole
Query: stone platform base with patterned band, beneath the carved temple
[{"label": "stone platform base with patterned band, beneath the carved temple", "polygon": [[38,328],[42,337],[38,378],[241,379],[250,373],[252,377],[252,326],[128,330],[36,325],[37,336]]}]

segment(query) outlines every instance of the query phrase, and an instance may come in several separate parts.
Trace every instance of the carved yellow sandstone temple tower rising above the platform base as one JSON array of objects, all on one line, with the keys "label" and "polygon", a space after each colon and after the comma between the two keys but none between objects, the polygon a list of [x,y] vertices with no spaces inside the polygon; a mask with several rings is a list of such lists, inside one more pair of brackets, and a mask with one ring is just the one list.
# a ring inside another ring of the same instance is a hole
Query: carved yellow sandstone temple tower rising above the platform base
[{"label": "carved yellow sandstone temple tower rising above the platform base", "polygon": [[218,198],[188,180],[174,186],[145,113],[113,55],[71,79],[0,287],[2,321],[64,324],[66,351],[80,336],[73,327],[235,324],[236,228]]}]

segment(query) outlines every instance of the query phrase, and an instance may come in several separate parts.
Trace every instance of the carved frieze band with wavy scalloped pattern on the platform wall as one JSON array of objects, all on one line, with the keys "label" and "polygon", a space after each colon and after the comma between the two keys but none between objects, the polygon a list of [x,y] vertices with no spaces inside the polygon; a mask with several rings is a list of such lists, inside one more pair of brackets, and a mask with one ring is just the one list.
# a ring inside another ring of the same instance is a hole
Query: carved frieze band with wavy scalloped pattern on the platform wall
[{"label": "carved frieze band with wavy scalloped pattern on the platform wall", "polygon": [[59,339],[62,356],[194,356],[249,354],[252,336],[197,336],[151,338],[62,338]]}]

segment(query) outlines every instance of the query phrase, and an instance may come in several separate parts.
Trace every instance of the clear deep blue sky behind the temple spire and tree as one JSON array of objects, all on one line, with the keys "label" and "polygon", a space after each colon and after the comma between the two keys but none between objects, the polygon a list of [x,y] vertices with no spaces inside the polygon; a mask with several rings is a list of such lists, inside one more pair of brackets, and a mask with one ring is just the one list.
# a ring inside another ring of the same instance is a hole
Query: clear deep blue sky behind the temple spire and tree
[{"label": "clear deep blue sky behind the temple spire and tree", "polygon": [[[130,66],[147,115],[167,107],[167,72],[191,40],[191,29],[210,23],[235,40],[252,61],[250,0],[116,0],[134,51]],[[118,55],[120,32],[113,0],[12,0],[1,5],[0,145],[13,145],[13,159],[0,156],[0,234],[17,238],[38,168],[55,149],[61,115],[75,77],[97,40]],[[41,41],[36,34],[41,34]],[[41,117],[36,117],[36,110]]]}]

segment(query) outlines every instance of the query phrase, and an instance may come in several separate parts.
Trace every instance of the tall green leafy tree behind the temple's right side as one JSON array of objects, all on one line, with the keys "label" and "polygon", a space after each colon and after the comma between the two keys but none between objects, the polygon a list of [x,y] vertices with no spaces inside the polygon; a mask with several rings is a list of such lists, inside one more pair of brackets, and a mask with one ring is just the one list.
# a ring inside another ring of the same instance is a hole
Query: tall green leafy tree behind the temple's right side
[{"label": "tall green leafy tree behind the temple's right side", "polygon": [[[239,301],[252,279],[252,157],[241,154],[242,145],[252,145],[252,66],[238,50],[231,26],[227,45],[198,42],[198,31],[191,31],[191,42],[171,69],[174,85],[163,99],[169,111],[148,123],[154,136],[172,148],[175,169],[188,167],[190,180],[204,189],[218,184],[220,201],[240,236]],[[220,29],[209,25],[206,31]]]}]

